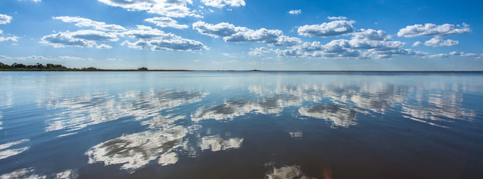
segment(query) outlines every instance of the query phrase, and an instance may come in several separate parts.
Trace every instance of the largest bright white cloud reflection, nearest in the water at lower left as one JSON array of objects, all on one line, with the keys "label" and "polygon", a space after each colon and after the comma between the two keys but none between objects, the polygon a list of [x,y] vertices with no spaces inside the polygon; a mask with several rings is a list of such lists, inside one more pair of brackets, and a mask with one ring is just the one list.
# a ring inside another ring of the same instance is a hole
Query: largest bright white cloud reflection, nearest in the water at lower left
[{"label": "largest bright white cloud reflection, nearest in the water at lower left", "polygon": [[97,144],[86,152],[89,163],[122,164],[121,169],[138,169],[159,158],[159,164],[171,164],[177,148],[185,147],[188,129],[172,126],[161,131],[144,131],[123,135]]}]

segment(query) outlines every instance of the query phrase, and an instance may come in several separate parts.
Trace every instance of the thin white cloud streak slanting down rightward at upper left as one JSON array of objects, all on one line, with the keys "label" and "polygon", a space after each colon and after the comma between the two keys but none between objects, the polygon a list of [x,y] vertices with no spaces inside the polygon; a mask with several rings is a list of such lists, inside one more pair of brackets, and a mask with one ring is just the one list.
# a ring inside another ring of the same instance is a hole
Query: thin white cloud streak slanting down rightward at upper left
[{"label": "thin white cloud streak slanting down rightward at upper left", "polygon": [[116,25],[116,24],[106,24],[104,22],[99,21],[92,21],[91,19],[86,19],[82,17],[53,17],[53,19],[58,19],[63,22],[75,23],[75,26],[78,27],[91,27],[95,28],[96,30],[103,30],[103,31],[123,31],[126,28]]}]

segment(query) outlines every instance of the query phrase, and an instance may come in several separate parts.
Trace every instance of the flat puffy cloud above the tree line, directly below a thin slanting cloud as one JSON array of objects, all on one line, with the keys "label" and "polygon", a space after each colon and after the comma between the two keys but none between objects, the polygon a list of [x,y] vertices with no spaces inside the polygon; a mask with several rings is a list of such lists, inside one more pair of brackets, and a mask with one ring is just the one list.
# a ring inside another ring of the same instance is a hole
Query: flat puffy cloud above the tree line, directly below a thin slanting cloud
[{"label": "flat puffy cloud above the tree line, directly below a thin slanting cloud", "polygon": [[56,34],[43,36],[40,43],[54,48],[68,46],[92,48],[97,46],[96,41],[118,41],[117,35],[101,32],[98,30],[78,30],[76,32],[57,32]]}]

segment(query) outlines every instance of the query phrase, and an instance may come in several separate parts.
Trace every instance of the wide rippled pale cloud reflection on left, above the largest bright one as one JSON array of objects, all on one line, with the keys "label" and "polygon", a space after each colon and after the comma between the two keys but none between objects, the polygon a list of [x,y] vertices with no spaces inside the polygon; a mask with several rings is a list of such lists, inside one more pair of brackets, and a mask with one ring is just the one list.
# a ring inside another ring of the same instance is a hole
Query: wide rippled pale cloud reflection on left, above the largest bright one
[{"label": "wide rippled pale cloud reflection on left, above the largest bright one", "polygon": [[200,91],[130,91],[119,95],[84,95],[70,99],[39,100],[48,109],[59,110],[47,121],[46,131],[76,131],[86,126],[132,116],[136,120],[158,115],[159,111],[199,102]]}]

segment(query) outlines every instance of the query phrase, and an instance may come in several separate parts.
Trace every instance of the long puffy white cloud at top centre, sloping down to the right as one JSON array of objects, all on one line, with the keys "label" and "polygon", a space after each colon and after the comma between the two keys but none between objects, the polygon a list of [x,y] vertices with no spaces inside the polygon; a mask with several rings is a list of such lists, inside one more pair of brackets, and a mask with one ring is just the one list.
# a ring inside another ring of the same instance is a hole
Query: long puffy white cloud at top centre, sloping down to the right
[{"label": "long puffy white cloud at top centre, sloping down to the right", "polygon": [[252,30],[226,22],[210,24],[197,21],[193,23],[193,29],[203,35],[215,38],[222,37],[224,41],[230,42],[259,42],[275,46],[294,46],[302,42],[299,38],[285,36],[282,30],[268,30],[266,28]]}]

